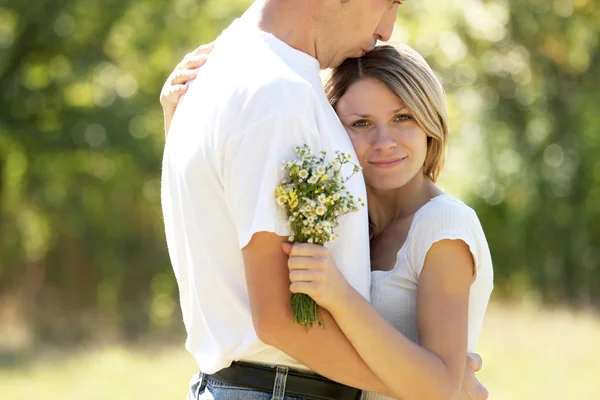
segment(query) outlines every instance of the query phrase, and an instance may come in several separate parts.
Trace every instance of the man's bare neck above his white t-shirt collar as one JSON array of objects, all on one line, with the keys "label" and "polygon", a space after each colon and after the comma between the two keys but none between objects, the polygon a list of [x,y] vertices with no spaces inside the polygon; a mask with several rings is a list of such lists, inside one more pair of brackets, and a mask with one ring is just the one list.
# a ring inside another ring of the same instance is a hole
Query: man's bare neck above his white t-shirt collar
[{"label": "man's bare neck above his white t-shirt collar", "polygon": [[256,0],[242,19],[316,58],[315,19],[309,1]]}]

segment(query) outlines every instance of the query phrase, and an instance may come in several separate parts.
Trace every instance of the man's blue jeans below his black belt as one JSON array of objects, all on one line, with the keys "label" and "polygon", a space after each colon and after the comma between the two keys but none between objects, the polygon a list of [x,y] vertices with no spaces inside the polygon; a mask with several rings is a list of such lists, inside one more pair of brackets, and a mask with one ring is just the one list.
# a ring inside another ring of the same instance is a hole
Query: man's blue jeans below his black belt
[{"label": "man's blue jeans below his black belt", "polygon": [[285,395],[288,368],[277,367],[273,393],[259,392],[217,381],[205,374],[194,375],[187,400],[304,400]]}]

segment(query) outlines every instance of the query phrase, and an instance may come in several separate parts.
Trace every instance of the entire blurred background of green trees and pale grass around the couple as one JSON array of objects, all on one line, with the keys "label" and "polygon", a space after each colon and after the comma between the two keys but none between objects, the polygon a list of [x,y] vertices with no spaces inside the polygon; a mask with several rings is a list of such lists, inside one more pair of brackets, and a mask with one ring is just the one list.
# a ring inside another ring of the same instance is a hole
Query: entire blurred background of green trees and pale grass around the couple
[{"label": "entire blurred background of green trees and pale grass around the couple", "polygon": [[[249,3],[0,0],[0,398],[184,398],[158,95]],[[400,7],[494,258],[491,399],[600,398],[599,37],[598,0]]]}]

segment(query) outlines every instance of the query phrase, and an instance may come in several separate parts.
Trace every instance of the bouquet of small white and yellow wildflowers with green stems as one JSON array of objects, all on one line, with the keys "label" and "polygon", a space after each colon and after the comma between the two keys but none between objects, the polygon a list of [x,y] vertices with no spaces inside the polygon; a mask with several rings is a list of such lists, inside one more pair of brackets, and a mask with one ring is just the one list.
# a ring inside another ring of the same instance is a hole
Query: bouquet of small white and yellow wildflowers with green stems
[{"label": "bouquet of small white and yellow wildflowers with green stems", "polygon": [[[337,151],[329,164],[325,162],[326,152],[313,155],[305,144],[296,147],[298,159],[282,164],[287,178],[277,187],[277,203],[285,208],[291,228],[290,242],[324,245],[335,240],[335,228],[342,215],[357,211],[364,206],[360,198],[355,198],[346,189],[346,181],[360,167],[351,162],[349,153]],[[352,175],[342,176],[346,164],[354,166]],[[311,327],[322,325],[319,308],[310,296],[303,293],[292,294],[294,322]]]}]

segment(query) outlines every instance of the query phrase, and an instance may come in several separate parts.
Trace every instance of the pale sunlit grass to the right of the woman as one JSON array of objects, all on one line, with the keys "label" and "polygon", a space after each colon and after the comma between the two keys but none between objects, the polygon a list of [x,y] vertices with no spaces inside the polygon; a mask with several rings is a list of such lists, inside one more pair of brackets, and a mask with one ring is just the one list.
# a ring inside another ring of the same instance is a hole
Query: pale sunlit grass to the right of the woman
[{"label": "pale sunlit grass to the right of the woman", "polygon": [[600,317],[495,305],[478,346],[492,400],[600,399]]}]

